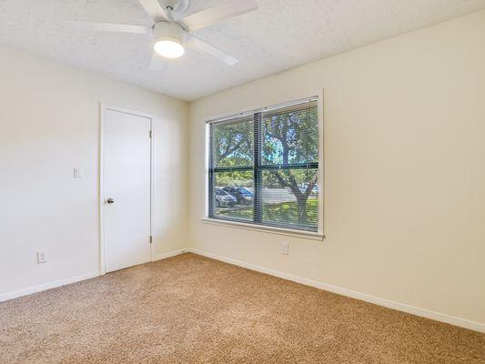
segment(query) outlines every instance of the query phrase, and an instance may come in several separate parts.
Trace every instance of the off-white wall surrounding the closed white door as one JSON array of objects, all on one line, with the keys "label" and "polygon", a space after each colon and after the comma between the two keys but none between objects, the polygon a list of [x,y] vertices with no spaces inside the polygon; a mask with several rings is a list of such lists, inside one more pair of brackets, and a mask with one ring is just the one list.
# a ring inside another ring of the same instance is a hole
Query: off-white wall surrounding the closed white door
[{"label": "off-white wall surrounding the closed white door", "polygon": [[187,247],[187,103],[5,45],[0,100],[0,298],[98,273],[100,102],[157,116],[154,254]]}]

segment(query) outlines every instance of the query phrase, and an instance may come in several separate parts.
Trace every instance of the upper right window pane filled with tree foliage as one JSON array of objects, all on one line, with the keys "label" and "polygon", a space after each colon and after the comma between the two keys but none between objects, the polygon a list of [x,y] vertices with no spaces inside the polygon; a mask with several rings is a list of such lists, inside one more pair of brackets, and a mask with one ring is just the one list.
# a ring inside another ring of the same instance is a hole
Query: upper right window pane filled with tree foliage
[{"label": "upper right window pane filled with tree foliage", "polygon": [[318,162],[317,102],[262,113],[263,164]]}]

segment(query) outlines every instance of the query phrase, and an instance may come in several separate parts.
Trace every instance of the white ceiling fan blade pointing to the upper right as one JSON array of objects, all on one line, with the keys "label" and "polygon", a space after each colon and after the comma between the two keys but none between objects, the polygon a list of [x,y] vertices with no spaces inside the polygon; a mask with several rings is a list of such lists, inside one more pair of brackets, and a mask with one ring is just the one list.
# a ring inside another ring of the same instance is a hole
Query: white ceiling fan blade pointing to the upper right
[{"label": "white ceiling fan blade pointing to the upper right", "polygon": [[230,0],[223,5],[210,7],[180,19],[190,32],[216,24],[229,17],[242,15],[258,9],[256,0]]}]

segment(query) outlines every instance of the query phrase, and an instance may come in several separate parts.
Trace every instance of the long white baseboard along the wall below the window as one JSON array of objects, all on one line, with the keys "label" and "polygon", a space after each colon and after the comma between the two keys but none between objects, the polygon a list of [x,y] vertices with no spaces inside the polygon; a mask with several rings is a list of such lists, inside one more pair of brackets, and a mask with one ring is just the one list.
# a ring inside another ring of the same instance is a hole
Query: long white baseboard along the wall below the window
[{"label": "long white baseboard along the wall below the window", "polygon": [[459,326],[460,328],[485,332],[485,323],[471,321],[470,319],[461,319],[461,318],[458,318],[456,316],[447,315],[445,313],[431,311],[427,308],[419,308],[419,307],[415,307],[415,306],[410,306],[410,305],[407,305],[405,303],[392,301],[390,299],[379,298],[379,297],[376,297],[376,296],[368,295],[366,293],[356,292],[354,290],[350,290],[350,289],[347,289],[347,288],[341,288],[341,287],[338,287],[338,286],[329,285],[327,283],[319,282],[317,280],[294,276],[292,274],[288,274],[288,273],[281,272],[281,271],[278,271],[278,270],[261,267],[261,266],[258,266],[256,264],[247,263],[247,262],[242,261],[242,260],[237,260],[237,259],[227,258],[227,257],[221,257],[221,256],[218,256],[217,254],[209,253],[209,252],[204,251],[204,250],[198,250],[198,249],[195,249],[195,248],[187,248],[187,251],[194,253],[194,254],[198,254],[198,255],[203,256],[203,257],[217,259],[217,260],[220,260],[220,261],[223,261],[223,262],[226,262],[226,263],[229,263],[229,264],[233,264],[233,265],[236,265],[236,266],[239,266],[239,267],[242,267],[242,268],[248,268],[248,269],[251,269],[251,270],[256,270],[256,271],[261,272],[261,273],[266,273],[270,276],[288,279],[288,280],[291,280],[291,281],[294,281],[294,282],[297,282],[297,283],[304,284],[306,286],[311,286],[311,287],[314,287],[314,288],[320,288],[320,289],[328,290],[330,292],[337,293],[338,295],[347,296],[347,297],[350,297],[350,298],[357,298],[357,299],[360,299],[362,301],[374,303],[376,305],[383,306],[383,307],[386,307],[386,308],[393,308],[393,309],[396,309],[396,310],[399,310],[399,311],[410,313],[412,315],[420,316],[422,318],[434,319],[436,321],[445,322],[445,323],[448,323],[450,325]]}]

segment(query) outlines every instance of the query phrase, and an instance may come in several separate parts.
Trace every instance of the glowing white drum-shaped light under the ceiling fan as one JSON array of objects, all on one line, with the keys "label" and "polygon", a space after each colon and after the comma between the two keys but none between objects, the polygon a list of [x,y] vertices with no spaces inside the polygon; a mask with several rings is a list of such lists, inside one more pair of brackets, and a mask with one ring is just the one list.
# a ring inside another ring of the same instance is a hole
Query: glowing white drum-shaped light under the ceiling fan
[{"label": "glowing white drum-shaped light under the ceiling fan", "polygon": [[186,53],[186,32],[177,23],[158,22],[154,25],[154,49],[158,55],[178,58]]}]

